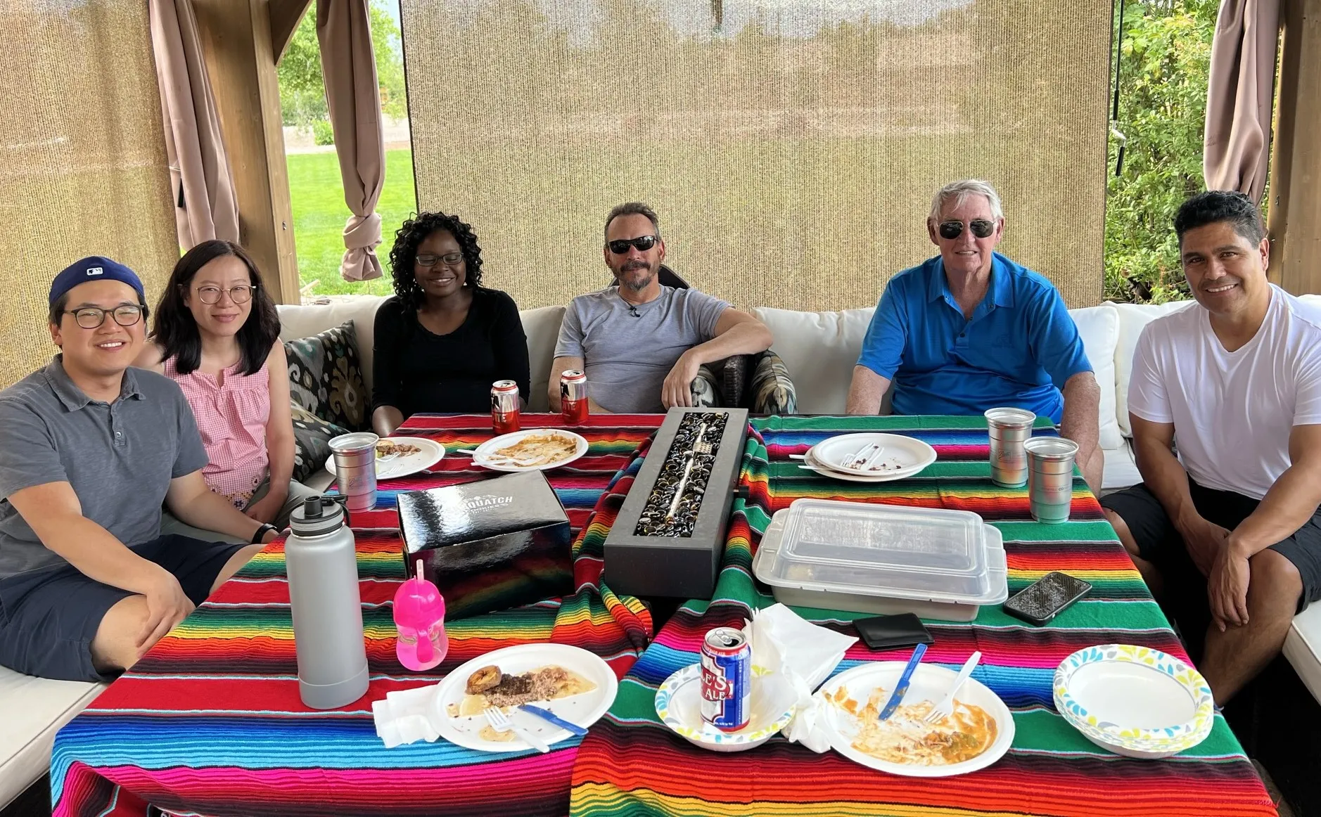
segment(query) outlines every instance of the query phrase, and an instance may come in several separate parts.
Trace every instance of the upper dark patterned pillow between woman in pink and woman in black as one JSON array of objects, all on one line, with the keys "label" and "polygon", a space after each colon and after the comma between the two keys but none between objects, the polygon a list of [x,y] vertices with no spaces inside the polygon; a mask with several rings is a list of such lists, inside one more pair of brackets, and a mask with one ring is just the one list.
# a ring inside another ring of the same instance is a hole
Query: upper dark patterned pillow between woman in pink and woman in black
[{"label": "upper dark patterned pillow between woman in pink and woman in black", "polygon": [[358,362],[353,321],[284,343],[289,396],[314,416],[351,432],[367,428],[369,395]]}]

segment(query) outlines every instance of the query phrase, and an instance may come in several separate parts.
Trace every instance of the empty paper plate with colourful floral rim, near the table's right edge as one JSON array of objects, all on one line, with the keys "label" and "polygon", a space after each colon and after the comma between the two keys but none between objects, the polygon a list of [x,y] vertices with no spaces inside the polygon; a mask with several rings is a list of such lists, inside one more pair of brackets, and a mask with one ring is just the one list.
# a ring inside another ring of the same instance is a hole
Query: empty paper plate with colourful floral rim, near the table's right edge
[{"label": "empty paper plate with colourful floral rim, near the table's right edge", "polygon": [[1199,672],[1148,647],[1100,644],[1055,669],[1055,709],[1096,746],[1129,758],[1168,758],[1206,739],[1211,688]]}]

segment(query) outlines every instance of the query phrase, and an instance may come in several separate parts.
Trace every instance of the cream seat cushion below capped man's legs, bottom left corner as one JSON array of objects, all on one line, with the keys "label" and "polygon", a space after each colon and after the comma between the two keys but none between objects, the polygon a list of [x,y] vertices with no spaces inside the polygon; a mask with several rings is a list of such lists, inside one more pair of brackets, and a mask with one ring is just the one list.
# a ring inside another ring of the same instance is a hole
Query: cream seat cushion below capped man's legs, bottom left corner
[{"label": "cream seat cushion below capped man's legs, bottom left corner", "polygon": [[0,808],[50,769],[55,733],[104,688],[0,667]]}]

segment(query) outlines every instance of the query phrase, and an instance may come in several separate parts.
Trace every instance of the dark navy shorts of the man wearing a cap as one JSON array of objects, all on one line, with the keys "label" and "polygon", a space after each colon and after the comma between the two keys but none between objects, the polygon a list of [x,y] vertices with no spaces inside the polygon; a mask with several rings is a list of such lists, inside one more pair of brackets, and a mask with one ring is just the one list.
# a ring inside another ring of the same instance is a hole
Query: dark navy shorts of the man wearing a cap
[{"label": "dark navy shorts of the man wearing a cap", "polygon": [[[131,550],[178,579],[194,605],[234,553],[247,545],[161,536]],[[102,585],[73,565],[55,565],[0,579],[0,665],[42,678],[112,681],[91,661],[91,641],[106,612],[128,590]]]}]

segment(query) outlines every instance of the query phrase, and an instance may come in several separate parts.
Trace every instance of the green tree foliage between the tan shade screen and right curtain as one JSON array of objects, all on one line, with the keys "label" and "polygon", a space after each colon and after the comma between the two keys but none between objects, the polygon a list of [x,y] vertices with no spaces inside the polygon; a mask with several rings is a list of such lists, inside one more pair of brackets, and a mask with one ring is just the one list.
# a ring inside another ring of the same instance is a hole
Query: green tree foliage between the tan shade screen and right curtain
[{"label": "green tree foliage between the tan shade screen and right curtain", "polygon": [[1106,297],[1186,298],[1174,211],[1202,190],[1206,81],[1217,0],[1129,0],[1119,44],[1120,176],[1110,144]]}]

